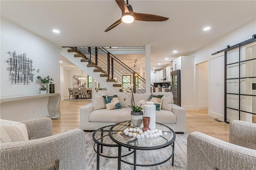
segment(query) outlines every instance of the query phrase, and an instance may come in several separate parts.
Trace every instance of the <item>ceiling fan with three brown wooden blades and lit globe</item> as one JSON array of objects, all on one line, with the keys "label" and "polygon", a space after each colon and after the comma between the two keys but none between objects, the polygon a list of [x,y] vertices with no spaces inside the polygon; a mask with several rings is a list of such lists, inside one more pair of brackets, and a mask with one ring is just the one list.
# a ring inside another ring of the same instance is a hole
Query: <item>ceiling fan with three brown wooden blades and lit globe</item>
[{"label": "ceiling fan with three brown wooden blades and lit globe", "polygon": [[114,22],[111,26],[109,26],[105,32],[112,30],[122,22],[124,23],[132,23],[134,20],[138,21],[166,21],[169,18],[163,17],[163,16],[158,16],[158,15],[153,15],[153,14],[142,14],[142,13],[137,13],[133,12],[132,6],[128,4],[128,0],[126,1],[126,4],[124,0],[116,0],[116,3],[118,4],[119,8],[122,11],[122,17]]}]

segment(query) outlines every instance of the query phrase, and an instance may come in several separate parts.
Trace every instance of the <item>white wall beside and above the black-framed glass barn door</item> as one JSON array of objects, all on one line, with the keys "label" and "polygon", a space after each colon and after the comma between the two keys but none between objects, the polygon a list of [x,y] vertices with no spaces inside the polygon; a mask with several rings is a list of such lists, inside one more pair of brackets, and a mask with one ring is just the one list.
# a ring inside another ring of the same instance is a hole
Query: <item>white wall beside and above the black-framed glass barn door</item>
[{"label": "white wall beside and above the black-framed glass barn door", "polygon": [[[190,54],[195,56],[195,64],[209,62],[209,115],[224,120],[224,56],[223,53],[211,54],[226,48],[227,45],[232,46],[248,40],[253,34],[256,34],[255,19]],[[220,86],[216,86],[216,82],[219,82]]]}]

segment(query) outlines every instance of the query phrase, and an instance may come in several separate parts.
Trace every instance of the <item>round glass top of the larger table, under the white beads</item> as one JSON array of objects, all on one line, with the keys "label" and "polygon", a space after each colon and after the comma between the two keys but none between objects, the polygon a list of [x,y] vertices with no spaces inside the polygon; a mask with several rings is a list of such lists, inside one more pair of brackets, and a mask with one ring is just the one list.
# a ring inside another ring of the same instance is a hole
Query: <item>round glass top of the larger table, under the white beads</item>
[{"label": "round glass top of the larger table, under the white beads", "polygon": [[152,150],[152,149],[159,149],[164,148],[170,144],[172,144],[175,140],[175,133],[166,125],[156,122],[156,129],[162,130],[162,135],[153,137],[153,138],[135,138],[134,140],[126,140],[124,137],[120,136],[118,132],[124,131],[126,128],[143,128],[143,123],[140,127],[133,127],[131,125],[131,121],[124,121],[113,125],[109,130],[110,138],[120,144],[122,146],[128,148],[136,148],[140,150]]}]

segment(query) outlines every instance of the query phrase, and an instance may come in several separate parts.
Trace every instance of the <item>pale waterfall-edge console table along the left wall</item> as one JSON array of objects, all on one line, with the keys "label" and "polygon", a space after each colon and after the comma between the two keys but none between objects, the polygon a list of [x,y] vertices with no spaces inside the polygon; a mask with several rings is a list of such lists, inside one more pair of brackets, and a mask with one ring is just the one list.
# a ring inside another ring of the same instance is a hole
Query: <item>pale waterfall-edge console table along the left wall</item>
[{"label": "pale waterfall-edge console table along the left wall", "polygon": [[2,97],[0,99],[0,104],[5,102],[22,101],[26,99],[36,99],[40,97],[49,97],[49,101],[48,101],[49,118],[58,119],[60,117],[60,93]]}]

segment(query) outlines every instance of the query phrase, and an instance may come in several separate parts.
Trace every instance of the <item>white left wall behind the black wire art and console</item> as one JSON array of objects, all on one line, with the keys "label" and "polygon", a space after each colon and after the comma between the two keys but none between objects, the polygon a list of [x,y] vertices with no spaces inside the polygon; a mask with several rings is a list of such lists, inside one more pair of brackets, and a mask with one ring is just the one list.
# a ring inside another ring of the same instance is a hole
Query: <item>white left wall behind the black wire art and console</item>
[{"label": "white left wall behind the black wire art and console", "polygon": [[[49,32],[49,34],[52,34]],[[11,85],[8,81],[8,67],[4,62],[8,59],[7,51],[16,51],[18,54],[26,53],[32,59],[34,69],[33,82],[29,85]],[[49,75],[54,79],[55,93],[60,93],[60,47],[13,22],[1,17],[1,55],[0,55],[0,97],[39,94],[40,84],[36,77]],[[22,121],[45,117],[48,115],[48,98],[32,100],[28,103],[22,101],[1,103],[1,118],[8,114],[8,119]],[[21,120],[22,119],[22,120]]]}]

